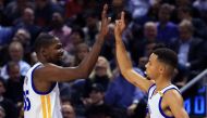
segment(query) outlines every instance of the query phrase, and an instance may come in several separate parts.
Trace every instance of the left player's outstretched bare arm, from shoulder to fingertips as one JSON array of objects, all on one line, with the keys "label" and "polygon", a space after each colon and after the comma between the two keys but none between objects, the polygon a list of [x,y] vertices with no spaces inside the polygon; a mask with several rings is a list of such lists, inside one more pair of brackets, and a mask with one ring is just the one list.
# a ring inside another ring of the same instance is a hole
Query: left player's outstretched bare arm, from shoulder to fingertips
[{"label": "left player's outstretched bare arm, from shoulder to fingertips", "polygon": [[74,79],[87,78],[98,58],[105,36],[108,32],[108,24],[110,18],[107,17],[108,5],[105,4],[101,13],[101,29],[98,38],[89,52],[77,67],[60,67],[53,64],[45,64],[35,70],[35,78],[45,81],[70,81]]}]

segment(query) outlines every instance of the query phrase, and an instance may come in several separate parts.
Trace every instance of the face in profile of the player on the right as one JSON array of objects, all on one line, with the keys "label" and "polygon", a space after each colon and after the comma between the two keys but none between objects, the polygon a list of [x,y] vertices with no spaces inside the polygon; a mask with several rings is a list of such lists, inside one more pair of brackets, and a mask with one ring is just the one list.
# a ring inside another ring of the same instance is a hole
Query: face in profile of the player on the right
[{"label": "face in profile of the player on the right", "polygon": [[157,55],[156,54],[151,54],[149,56],[149,61],[148,63],[145,65],[146,67],[146,75],[149,79],[155,80],[156,77],[158,77],[158,61],[157,61]]}]

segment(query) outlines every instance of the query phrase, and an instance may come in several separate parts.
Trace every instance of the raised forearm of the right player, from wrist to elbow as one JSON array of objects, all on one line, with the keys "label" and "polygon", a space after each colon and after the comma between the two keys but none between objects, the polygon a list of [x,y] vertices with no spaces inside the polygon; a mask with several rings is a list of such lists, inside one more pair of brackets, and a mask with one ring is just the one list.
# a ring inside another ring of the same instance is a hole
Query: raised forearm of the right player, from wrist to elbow
[{"label": "raised forearm of the right player, from wrist to elbow", "polygon": [[126,70],[132,69],[132,63],[130,57],[127,56],[127,52],[125,50],[121,36],[115,37],[115,55],[118,65],[122,74]]}]

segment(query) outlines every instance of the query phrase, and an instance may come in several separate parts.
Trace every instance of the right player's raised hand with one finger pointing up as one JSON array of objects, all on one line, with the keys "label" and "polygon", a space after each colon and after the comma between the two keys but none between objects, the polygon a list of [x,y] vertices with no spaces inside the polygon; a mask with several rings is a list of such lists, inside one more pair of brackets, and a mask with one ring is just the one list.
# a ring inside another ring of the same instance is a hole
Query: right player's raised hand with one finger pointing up
[{"label": "right player's raised hand with one finger pointing up", "polygon": [[115,21],[114,36],[121,37],[124,28],[125,28],[124,12],[122,12],[121,13],[121,19]]}]

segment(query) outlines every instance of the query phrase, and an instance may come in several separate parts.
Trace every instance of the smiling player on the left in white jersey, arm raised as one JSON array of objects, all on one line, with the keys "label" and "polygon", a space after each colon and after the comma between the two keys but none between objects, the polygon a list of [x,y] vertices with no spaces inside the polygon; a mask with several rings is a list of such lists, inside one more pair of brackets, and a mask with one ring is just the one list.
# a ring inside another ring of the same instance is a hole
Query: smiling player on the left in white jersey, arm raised
[{"label": "smiling player on the left in white jersey, arm raised", "polygon": [[24,80],[25,118],[62,118],[58,81],[87,78],[98,58],[110,18],[107,4],[101,14],[101,29],[92,51],[77,67],[56,65],[63,54],[62,44],[57,37],[41,34],[35,43],[38,63],[27,73]]}]

